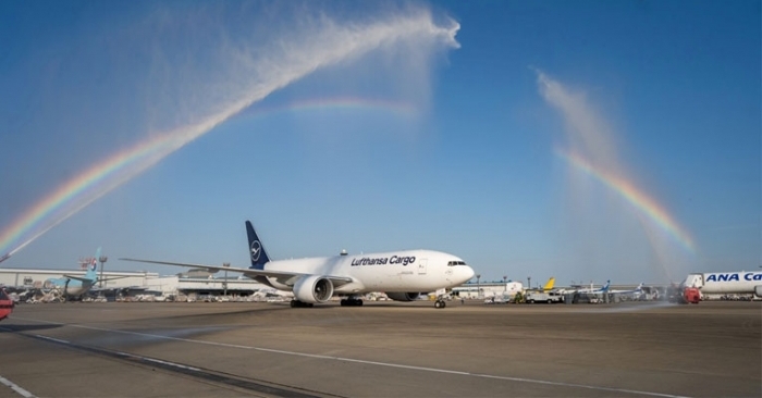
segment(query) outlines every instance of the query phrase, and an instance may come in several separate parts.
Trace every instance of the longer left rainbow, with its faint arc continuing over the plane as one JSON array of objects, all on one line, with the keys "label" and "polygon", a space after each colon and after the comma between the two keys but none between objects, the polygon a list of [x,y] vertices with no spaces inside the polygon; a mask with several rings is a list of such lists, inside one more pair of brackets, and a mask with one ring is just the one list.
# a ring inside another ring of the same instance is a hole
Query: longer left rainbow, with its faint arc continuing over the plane
[{"label": "longer left rainbow, with its faint arc continuing over the plane", "polygon": [[[359,98],[334,98],[293,102],[279,108],[258,110],[251,115],[263,117],[275,112],[316,109],[381,109],[403,116],[416,114],[416,108],[410,104]],[[57,187],[2,229],[0,253],[14,254],[103,195],[147,171],[170,153],[210,132],[235,113],[237,112],[218,114],[196,125],[148,138],[94,164]]]}]

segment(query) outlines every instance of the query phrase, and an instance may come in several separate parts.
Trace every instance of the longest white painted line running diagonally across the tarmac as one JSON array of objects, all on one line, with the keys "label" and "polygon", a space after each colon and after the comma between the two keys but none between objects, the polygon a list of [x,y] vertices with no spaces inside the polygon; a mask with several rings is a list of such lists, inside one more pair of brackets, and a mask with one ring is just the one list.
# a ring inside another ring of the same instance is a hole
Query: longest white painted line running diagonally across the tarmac
[{"label": "longest white painted line running diagonally across the tarmac", "polygon": [[[62,325],[62,326],[79,327],[79,328],[86,328],[86,329],[91,329],[91,331],[101,331],[101,332],[111,332],[111,333],[122,333],[122,334],[135,335],[135,336],[142,336],[142,337],[161,338],[161,339],[167,339],[167,340],[175,340],[175,341],[183,341],[183,343],[194,343],[194,344],[201,344],[201,345],[217,346],[217,347],[239,348],[239,349],[254,350],[254,351],[261,351],[261,352],[281,353],[281,355],[294,356],[294,357],[315,358],[315,359],[328,359],[328,360],[334,360],[334,361],[340,361],[340,362],[364,363],[364,364],[378,365],[378,366],[386,366],[386,368],[410,369],[410,370],[422,371],[422,372],[444,373],[444,374],[457,374],[457,375],[463,375],[463,376],[482,377],[482,378],[492,378],[492,380],[502,380],[502,381],[507,381],[507,382],[540,384],[540,385],[558,386],[558,387],[585,388],[585,389],[593,389],[593,390],[609,391],[609,393],[643,395],[643,396],[649,396],[649,397],[690,398],[690,397],[688,397],[688,396],[680,396],[680,395],[673,395],[673,394],[662,394],[662,393],[652,393],[652,391],[643,391],[643,390],[629,389],[629,388],[601,387],[601,386],[592,386],[592,385],[587,385],[587,384],[575,384],[575,383],[564,383],[564,382],[552,382],[552,381],[544,381],[544,380],[539,380],[539,378],[525,378],[525,377],[499,376],[499,375],[484,374],[484,373],[471,373],[471,372],[463,372],[463,371],[453,371],[453,370],[448,370],[448,369],[416,366],[416,365],[406,365],[406,364],[401,364],[401,363],[378,362],[378,361],[368,361],[368,360],[353,359],[353,358],[333,357],[333,356],[325,356],[325,355],[320,355],[320,353],[306,353],[306,352],[296,352],[296,351],[279,350],[279,349],[273,349],[273,348],[262,348],[262,347],[253,347],[253,346],[242,346],[242,345],[229,344],[229,343],[217,343],[217,341],[194,340],[194,339],[189,339],[189,338],[162,336],[162,335],[155,335],[155,334],[139,333],[139,332],[116,331],[116,329],[110,329],[110,328],[105,328],[105,327],[77,325],[77,324],[72,324],[72,323],[59,323],[59,322],[39,321],[39,320],[33,320],[33,319],[22,319],[22,318],[19,318],[19,316],[15,316],[15,319],[17,319],[17,320],[25,320],[25,321],[33,321],[33,322],[40,322],[40,323],[49,323],[49,324]],[[42,337],[42,336],[40,336],[40,337]],[[49,338],[49,339],[52,339],[52,340],[56,340],[56,339],[50,338],[50,337],[48,337],[48,338]],[[131,355],[131,356],[134,356],[134,355]]]}]

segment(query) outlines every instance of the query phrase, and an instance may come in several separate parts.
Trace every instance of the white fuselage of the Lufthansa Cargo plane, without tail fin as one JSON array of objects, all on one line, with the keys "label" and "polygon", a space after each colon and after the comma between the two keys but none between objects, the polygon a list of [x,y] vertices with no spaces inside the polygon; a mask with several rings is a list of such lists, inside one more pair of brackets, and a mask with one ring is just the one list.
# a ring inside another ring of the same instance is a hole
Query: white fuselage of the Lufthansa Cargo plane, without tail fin
[{"label": "white fuselage of the Lufthansa Cargo plane, without tail fin", "polygon": [[[352,282],[337,285],[334,294],[369,291],[434,291],[458,286],[474,270],[453,256],[433,250],[404,250],[356,256],[335,256],[270,261],[268,271],[287,271],[310,275],[345,276]],[[285,281],[268,277],[273,287],[291,290]]]}]

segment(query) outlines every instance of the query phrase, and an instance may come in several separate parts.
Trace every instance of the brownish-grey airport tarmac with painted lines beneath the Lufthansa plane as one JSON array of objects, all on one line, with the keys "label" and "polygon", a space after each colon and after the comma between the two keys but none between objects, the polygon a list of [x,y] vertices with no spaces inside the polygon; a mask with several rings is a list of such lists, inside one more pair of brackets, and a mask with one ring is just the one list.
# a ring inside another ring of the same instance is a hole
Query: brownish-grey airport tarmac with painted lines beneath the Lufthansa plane
[{"label": "brownish-grey airport tarmac with painted lines beneath the Lufthansa plane", "polygon": [[0,346],[0,397],[762,395],[760,302],[21,304]]}]

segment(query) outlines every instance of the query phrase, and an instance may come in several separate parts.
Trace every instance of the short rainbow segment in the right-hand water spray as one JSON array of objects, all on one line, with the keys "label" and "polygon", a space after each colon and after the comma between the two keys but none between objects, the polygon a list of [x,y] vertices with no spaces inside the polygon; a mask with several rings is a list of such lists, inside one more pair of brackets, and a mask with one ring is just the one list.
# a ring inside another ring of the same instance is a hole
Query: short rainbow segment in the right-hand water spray
[{"label": "short rainbow segment in the right-hand water spray", "polygon": [[585,172],[613,189],[615,192],[619,194],[625,200],[635,206],[642,214],[646,214],[663,231],[668,233],[669,236],[677,240],[688,251],[695,251],[693,241],[690,238],[690,235],[688,235],[685,229],[677,225],[675,220],[669,216],[664,208],[659,206],[659,203],[656,203],[656,201],[650,198],[648,195],[639,190],[632,183],[593,166],[590,162],[577,153],[561,150],[556,150],[555,152],[560,158],[567,161],[577,170]]}]

